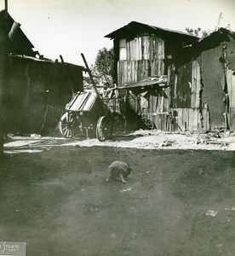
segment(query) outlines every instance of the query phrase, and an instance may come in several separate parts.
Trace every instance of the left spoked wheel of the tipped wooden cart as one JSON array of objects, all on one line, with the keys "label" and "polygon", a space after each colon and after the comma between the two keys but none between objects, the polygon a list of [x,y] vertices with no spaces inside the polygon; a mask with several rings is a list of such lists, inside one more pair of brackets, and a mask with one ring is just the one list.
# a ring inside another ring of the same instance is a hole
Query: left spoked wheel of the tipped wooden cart
[{"label": "left spoked wheel of the tipped wooden cart", "polygon": [[74,137],[76,127],[75,120],[71,113],[64,113],[59,122],[60,134],[63,137]]}]

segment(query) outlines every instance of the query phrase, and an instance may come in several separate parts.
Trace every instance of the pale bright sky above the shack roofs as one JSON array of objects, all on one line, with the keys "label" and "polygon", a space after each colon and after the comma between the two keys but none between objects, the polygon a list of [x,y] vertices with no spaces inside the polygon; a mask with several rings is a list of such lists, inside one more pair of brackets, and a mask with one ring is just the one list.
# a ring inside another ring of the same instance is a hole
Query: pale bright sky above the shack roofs
[{"label": "pale bright sky above the shack roofs", "polygon": [[235,0],[8,0],[8,9],[41,55],[62,55],[81,66],[81,53],[94,64],[99,49],[112,48],[104,37],[133,20],[182,32],[214,31],[222,13],[220,26],[230,24],[235,32]]}]

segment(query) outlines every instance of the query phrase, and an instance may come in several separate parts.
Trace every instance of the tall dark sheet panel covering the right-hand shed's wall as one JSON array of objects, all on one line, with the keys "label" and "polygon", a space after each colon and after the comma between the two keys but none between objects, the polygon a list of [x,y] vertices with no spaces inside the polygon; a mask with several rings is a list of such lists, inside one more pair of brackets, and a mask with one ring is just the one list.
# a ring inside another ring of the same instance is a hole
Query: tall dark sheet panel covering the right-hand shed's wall
[{"label": "tall dark sheet panel covering the right-hand shed's wall", "polygon": [[210,129],[225,127],[225,73],[220,61],[222,54],[222,45],[201,54],[202,104],[209,110]]}]

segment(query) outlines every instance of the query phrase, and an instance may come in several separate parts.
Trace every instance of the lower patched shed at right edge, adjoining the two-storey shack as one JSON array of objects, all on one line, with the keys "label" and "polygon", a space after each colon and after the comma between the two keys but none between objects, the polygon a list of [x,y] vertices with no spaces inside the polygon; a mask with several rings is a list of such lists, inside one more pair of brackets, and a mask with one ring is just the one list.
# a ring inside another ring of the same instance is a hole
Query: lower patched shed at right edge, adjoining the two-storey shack
[{"label": "lower patched shed at right edge, adjoining the two-storey shack", "polygon": [[220,28],[171,60],[175,130],[235,130],[234,39],[234,32]]}]

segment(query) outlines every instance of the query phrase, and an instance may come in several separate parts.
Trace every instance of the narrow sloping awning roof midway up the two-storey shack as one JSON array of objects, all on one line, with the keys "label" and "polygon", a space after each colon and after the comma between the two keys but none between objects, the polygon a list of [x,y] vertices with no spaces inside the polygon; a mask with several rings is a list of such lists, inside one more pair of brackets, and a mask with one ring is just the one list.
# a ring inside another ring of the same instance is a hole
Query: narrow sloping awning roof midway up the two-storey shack
[{"label": "narrow sloping awning roof midway up the two-storey shack", "polygon": [[167,79],[167,76],[161,76],[161,77],[151,77],[148,79],[143,79],[139,82],[133,83],[133,84],[127,84],[125,86],[118,87],[119,89],[131,89],[131,88],[144,88],[146,86],[166,86],[169,85],[169,80]]}]

